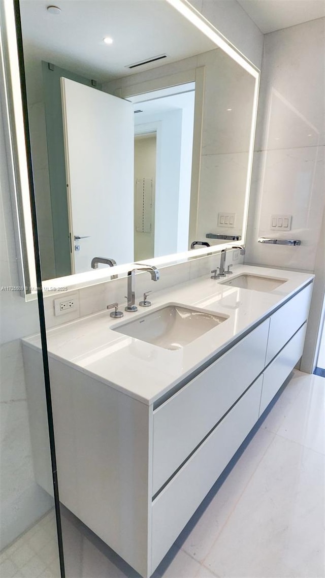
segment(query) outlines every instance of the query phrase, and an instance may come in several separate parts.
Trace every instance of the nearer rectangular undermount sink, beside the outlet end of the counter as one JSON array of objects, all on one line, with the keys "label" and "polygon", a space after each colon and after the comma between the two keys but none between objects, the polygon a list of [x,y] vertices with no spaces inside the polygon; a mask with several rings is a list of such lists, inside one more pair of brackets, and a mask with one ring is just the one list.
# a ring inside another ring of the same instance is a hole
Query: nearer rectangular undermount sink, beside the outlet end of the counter
[{"label": "nearer rectangular undermount sink, beside the outlet end of the counter", "polygon": [[228,317],[171,304],[112,328],[165,349],[180,349],[217,327]]}]

